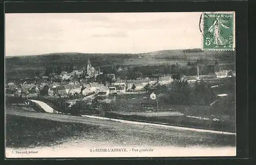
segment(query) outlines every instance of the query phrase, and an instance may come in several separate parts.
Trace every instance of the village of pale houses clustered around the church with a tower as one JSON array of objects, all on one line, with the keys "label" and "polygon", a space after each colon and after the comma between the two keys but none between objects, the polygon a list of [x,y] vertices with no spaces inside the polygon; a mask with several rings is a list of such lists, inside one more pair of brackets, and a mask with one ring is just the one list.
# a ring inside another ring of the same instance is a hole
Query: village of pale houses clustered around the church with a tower
[{"label": "village of pale houses clustered around the church with a tower", "polygon": [[[220,79],[235,76],[231,70],[215,72],[211,75],[183,75],[179,81],[189,83],[200,80]],[[165,86],[176,81],[174,76],[162,74],[161,76],[138,77],[136,79],[120,79],[114,73],[104,74],[100,67],[93,67],[90,59],[87,67],[81,70],[73,70],[68,73],[51,73],[49,76],[34,76],[19,79],[17,82],[8,82],[6,85],[7,97],[22,97],[35,99],[45,97],[48,99],[66,98],[70,107],[76,102],[90,104],[94,98],[101,102],[110,103],[117,95],[139,94],[148,92],[148,88]],[[72,99],[72,98],[76,99]]]}]

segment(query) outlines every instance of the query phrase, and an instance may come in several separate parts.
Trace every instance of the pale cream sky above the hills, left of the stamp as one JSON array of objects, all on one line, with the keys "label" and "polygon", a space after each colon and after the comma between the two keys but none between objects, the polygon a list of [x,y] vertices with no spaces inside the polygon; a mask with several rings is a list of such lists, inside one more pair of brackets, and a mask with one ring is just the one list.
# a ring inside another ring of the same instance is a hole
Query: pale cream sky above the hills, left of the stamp
[{"label": "pale cream sky above the hills, left of the stamp", "polygon": [[200,12],[5,15],[6,56],[143,53],[201,47]]}]

